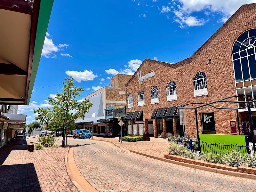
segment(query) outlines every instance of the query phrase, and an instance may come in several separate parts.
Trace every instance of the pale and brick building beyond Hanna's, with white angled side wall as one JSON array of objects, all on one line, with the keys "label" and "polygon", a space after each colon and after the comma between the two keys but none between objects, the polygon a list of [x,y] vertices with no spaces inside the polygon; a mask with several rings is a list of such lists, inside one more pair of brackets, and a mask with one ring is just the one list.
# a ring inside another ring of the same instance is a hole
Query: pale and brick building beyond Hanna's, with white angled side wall
[{"label": "pale and brick building beyond Hanna's, with white angled side wall", "polygon": [[85,114],[84,120],[76,121],[77,129],[92,130],[93,135],[105,136],[109,133],[110,136],[118,136],[119,125],[117,118],[113,119],[113,109],[125,110],[125,84],[131,77],[131,75],[117,74],[111,77],[111,86],[102,87],[86,95],[85,99],[89,99],[93,105]]}]

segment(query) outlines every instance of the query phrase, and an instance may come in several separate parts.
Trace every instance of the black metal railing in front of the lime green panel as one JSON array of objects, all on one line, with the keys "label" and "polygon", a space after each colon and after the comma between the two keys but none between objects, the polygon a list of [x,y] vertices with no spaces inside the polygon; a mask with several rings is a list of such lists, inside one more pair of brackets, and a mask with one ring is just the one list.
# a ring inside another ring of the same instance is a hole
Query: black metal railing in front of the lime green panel
[{"label": "black metal railing in front of the lime green panel", "polygon": [[[178,139],[173,139],[169,138],[168,139],[169,144],[170,142],[177,142],[183,144],[185,147],[188,149],[191,149],[195,153],[220,153],[220,154],[226,154],[230,150],[236,150],[237,152],[241,153],[247,153],[247,154],[253,154],[256,151],[256,148],[253,147],[252,145],[247,146],[247,145],[229,145],[229,144],[218,144],[218,143],[205,143],[204,141],[197,141],[197,138],[178,138]],[[201,149],[201,150],[200,150]]]}]

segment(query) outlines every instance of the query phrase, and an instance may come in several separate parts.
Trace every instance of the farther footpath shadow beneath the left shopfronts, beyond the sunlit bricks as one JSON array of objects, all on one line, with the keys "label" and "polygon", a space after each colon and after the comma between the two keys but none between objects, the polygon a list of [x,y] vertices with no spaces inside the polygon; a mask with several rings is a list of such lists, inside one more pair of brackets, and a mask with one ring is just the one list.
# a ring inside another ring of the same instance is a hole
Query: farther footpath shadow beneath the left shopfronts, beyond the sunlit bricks
[{"label": "farther footpath shadow beneath the left shopfronts, beyond the sunlit bricks", "polygon": [[27,141],[23,140],[23,137],[15,137],[2,148],[0,148],[0,165],[2,165],[5,159],[9,156],[11,151],[28,149]]}]

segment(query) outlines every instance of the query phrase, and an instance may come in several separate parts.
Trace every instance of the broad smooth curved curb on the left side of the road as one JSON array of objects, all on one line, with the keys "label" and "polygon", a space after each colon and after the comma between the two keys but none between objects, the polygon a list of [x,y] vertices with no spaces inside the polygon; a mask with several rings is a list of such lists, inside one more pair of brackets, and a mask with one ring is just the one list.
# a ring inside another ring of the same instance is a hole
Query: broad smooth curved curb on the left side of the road
[{"label": "broad smooth curved curb on the left side of the road", "polygon": [[84,176],[76,166],[76,162],[74,160],[74,148],[70,149],[70,147],[68,147],[65,155],[65,166],[70,180],[80,192],[98,192],[97,189],[92,187],[92,185],[84,179]]}]

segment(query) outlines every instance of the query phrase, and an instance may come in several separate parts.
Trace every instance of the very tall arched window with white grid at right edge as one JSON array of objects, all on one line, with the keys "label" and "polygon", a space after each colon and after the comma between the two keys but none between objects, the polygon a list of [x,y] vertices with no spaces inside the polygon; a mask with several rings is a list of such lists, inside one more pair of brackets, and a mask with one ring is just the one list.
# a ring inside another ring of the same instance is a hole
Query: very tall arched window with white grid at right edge
[{"label": "very tall arched window with white grid at right edge", "polygon": [[[256,29],[242,33],[235,41],[232,50],[235,71],[236,94],[256,99]],[[245,101],[244,98],[238,98]],[[249,100],[247,100],[249,101]],[[244,107],[245,104],[239,104]],[[255,108],[255,106],[252,106]]]}]

